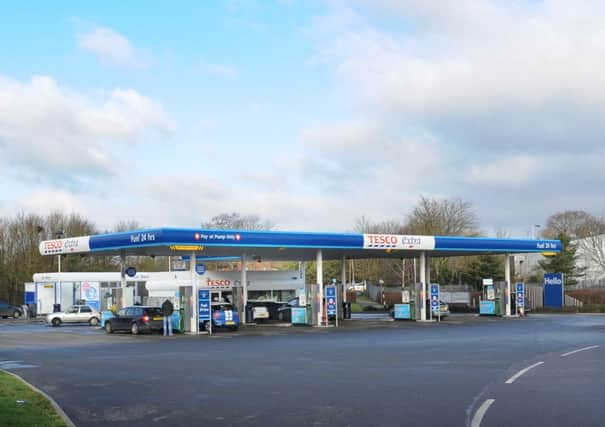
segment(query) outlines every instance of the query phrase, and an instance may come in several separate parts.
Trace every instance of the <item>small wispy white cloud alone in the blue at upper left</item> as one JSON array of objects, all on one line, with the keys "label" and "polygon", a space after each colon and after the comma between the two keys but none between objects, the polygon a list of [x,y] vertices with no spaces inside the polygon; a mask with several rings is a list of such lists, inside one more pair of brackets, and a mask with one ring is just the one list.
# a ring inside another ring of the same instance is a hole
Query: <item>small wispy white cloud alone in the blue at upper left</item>
[{"label": "small wispy white cloud alone in the blue at upper left", "polygon": [[95,27],[78,37],[80,49],[97,57],[105,66],[145,68],[151,63],[148,54],[135,48],[122,34],[107,27]]}]

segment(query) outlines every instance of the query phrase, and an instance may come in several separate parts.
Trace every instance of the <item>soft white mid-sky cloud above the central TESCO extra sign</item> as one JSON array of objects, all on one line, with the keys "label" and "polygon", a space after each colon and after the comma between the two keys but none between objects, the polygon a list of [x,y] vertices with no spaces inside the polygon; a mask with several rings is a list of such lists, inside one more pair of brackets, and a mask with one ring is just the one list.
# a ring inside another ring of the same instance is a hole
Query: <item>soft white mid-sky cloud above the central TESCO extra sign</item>
[{"label": "soft white mid-sky cloud above the central TESCO extra sign", "polygon": [[430,181],[425,171],[439,168],[441,162],[429,135],[401,133],[363,120],[309,128],[302,142],[301,175],[333,192],[361,194],[363,189],[393,188],[401,182],[423,186]]}]

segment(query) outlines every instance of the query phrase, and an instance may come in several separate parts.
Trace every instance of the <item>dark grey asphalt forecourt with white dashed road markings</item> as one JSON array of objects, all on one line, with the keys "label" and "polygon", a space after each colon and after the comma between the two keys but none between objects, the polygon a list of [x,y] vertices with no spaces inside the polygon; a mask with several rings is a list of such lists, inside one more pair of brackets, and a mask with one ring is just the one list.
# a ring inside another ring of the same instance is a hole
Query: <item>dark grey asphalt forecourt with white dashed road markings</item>
[{"label": "dark grey asphalt forecourt with white dashed road markings", "polygon": [[352,321],[211,338],[0,321],[0,367],[78,426],[605,425],[599,315]]}]

